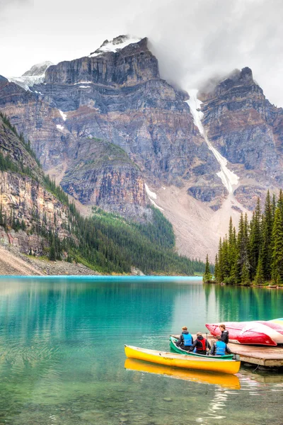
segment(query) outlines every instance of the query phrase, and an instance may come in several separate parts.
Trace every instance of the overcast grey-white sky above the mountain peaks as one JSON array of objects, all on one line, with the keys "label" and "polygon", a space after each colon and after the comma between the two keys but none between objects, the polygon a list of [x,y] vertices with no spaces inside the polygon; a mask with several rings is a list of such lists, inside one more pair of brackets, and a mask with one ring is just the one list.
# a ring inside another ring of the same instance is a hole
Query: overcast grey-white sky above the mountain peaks
[{"label": "overcast grey-white sky above the mountain peaks", "polygon": [[183,89],[250,67],[283,106],[282,0],[0,0],[0,74],[89,55],[124,33],[147,36],[161,76]]}]

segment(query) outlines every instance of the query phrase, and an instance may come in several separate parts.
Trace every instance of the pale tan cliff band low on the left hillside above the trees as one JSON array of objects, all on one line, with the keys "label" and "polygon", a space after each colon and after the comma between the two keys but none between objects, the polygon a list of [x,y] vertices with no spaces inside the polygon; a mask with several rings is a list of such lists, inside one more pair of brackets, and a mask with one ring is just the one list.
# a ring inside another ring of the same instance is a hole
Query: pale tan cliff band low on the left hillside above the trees
[{"label": "pale tan cliff band low on the left hillside above the trees", "polygon": [[[48,243],[46,237],[38,234],[38,226],[52,229],[60,239],[69,237],[64,228],[69,221],[68,208],[27,176],[0,171],[0,204],[2,217],[8,221],[7,229],[0,226],[0,238],[2,242],[18,246],[21,252],[46,253]],[[24,232],[11,228],[12,216],[21,225],[24,222]]]}]

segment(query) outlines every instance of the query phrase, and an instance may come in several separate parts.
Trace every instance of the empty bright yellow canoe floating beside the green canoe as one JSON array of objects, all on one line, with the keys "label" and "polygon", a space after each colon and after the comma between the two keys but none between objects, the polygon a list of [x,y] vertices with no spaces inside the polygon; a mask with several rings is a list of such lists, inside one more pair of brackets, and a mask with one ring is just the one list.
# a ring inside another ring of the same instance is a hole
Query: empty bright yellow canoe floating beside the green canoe
[{"label": "empty bright yellow canoe floating beside the green canoe", "polygon": [[238,373],[241,361],[238,360],[214,360],[212,358],[195,358],[183,354],[166,353],[166,351],[148,350],[125,345],[125,354],[128,358],[149,361],[160,365],[174,368],[209,370],[219,373]]}]

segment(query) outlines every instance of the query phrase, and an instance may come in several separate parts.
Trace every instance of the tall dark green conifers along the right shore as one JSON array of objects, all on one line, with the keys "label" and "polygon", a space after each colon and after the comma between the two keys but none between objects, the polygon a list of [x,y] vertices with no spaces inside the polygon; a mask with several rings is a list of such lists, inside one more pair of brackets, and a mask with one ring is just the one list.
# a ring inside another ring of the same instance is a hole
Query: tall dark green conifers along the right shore
[{"label": "tall dark green conifers along the right shore", "polygon": [[[211,281],[207,265],[204,281]],[[238,233],[230,218],[228,235],[219,241],[214,281],[231,285],[283,285],[283,194],[267,191],[263,212],[258,198],[253,217],[241,214]]]}]

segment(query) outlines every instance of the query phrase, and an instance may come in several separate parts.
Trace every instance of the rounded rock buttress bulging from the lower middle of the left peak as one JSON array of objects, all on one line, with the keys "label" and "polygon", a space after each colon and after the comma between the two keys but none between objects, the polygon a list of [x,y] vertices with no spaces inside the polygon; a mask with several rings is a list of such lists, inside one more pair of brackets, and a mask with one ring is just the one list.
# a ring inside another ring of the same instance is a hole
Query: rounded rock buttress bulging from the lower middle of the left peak
[{"label": "rounded rock buttress bulging from the lower middle of the left peak", "polygon": [[144,178],[123,149],[105,140],[82,139],[74,158],[61,181],[64,191],[84,205],[150,220]]}]

